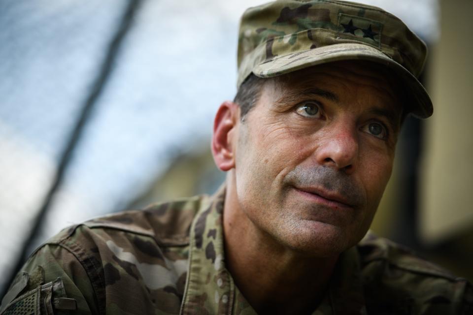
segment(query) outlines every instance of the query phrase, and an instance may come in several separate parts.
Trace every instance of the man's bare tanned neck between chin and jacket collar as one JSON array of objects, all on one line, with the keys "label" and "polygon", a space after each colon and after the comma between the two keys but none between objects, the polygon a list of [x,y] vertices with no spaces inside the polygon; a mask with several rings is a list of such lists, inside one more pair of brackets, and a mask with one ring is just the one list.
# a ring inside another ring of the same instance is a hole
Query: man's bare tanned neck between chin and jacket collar
[{"label": "man's bare tanned neck between chin and jacket collar", "polygon": [[316,308],[338,256],[313,257],[278,243],[240,209],[231,181],[223,226],[227,268],[258,314],[310,314]]}]

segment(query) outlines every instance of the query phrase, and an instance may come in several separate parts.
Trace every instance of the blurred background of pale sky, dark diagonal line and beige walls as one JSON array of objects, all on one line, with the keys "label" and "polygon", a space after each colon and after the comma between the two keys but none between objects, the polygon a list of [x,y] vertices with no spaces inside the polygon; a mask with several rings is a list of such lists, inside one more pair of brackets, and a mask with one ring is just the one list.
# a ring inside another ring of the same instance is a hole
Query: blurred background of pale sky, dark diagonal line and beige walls
[{"label": "blurred background of pale sky, dark diagonal line and beige walls", "polygon": [[[264,2],[0,1],[0,297],[62,228],[220,186],[213,115]],[[473,280],[473,1],[363,2],[428,43],[435,108],[406,121],[372,229]]]}]

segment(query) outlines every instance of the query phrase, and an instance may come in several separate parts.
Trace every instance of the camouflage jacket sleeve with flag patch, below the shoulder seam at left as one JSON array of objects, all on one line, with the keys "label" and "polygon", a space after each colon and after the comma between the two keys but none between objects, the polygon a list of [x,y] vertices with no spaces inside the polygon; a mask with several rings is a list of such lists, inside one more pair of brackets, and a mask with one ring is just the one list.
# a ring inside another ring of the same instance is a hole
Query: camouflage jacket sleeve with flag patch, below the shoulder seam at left
[{"label": "camouflage jacket sleeve with flag patch, below the shoulder seam at left", "polygon": [[0,315],[99,314],[96,288],[79,259],[59,244],[38,249],[3,297]]}]

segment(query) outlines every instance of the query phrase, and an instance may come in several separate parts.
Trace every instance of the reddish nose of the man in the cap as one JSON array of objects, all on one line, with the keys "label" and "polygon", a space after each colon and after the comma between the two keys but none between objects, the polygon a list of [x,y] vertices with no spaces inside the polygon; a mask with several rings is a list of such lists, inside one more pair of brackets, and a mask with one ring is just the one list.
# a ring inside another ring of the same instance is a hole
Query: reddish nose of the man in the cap
[{"label": "reddish nose of the man in the cap", "polygon": [[358,135],[350,126],[333,126],[322,138],[316,149],[320,165],[352,173],[358,159]]}]

